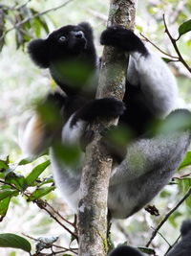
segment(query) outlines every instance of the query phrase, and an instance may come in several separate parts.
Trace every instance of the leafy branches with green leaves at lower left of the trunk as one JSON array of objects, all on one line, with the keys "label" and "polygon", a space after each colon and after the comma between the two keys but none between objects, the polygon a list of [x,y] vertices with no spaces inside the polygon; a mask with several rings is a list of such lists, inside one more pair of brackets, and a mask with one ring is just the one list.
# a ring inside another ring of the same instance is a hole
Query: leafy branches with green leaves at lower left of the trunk
[{"label": "leafy branches with green leaves at lower left of the trunk", "polygon": [[[7,158],[7,160],[0,160],[0,184],[2,184],[0,190],[0,221],[3,221],[4,217],[7,214],[11,198],[22,195],[26,198],[27,201],[32,201],[40,209],[48,213],[53,221],[58,223],[71,235],[72,241],[78,241],[76,217],[74,218],[74,221],[66,220],[57,210],[53,208],[52,205],[50,205],[46,200],[42,199],[42,197],[48,195],[55,188],[52,177],[47,177],[43,179],[39,178],[39,175],[41,175],[50,165],[50,161],[46,160],[38,164],[27,176],[18,175],[14,172],[15,168],[29,163],[31,163],[31,161],[23,159],[19,161],[19,163],[12,165],[9,161],[9,158]],[[35,187],[35,189],[30,192],[30,187]],[[5,244],[6,239],[9,241],[9,243]],[[5,245],[6,247],[21,248],[23,250],[31,252],[31,244],[27,241],[25,241],[25,243],[23,244],[23,240],[24,239],[22,237],[16,236],[14,234],[0,234],[0,247]],[[72,251],[75,254],[77,253],[77,248],[73,247],[59,247],[61,250],[53,251],[53,246],[58,247],[58,245],[54,245],[53,243],[55,241],[52,241],[51,239],[48,240],[47,244],[46,241],[46,238],[41,238],[41,244],[39,246],[36,245],[36,253],[43,250],[44,248],[50,248],[52,250],[51,254],[47,254],[49,256],[65,253],[66,251]]]}]

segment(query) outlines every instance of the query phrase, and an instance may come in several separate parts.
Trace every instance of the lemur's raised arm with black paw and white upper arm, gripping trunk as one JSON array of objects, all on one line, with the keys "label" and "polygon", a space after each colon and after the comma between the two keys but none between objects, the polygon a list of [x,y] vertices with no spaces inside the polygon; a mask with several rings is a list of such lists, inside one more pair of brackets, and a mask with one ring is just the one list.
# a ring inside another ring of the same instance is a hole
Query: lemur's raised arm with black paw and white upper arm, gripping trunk
[{"label": "lemur's raised arm with black paw and white upper arm, gripping trunk", "polygon": [[130,54],[128,81],[140,86],[145,102],[156,116],[168,114],[178,91],[175,78],[164,61],[150,52],[132,31],[121,27],[108,28],[100,41]]}]

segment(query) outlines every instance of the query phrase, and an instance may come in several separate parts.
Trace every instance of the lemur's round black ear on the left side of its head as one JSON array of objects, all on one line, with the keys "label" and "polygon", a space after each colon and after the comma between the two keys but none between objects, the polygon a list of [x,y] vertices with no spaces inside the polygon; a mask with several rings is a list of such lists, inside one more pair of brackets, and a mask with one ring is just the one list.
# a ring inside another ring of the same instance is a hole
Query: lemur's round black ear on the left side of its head
[{"label": "lemur's round black ear on the left side of its head", "polygon": [[49,49],[46,39],[34,39],[28,45],[28,52],[35,64],[42,68],[50,65]]}]

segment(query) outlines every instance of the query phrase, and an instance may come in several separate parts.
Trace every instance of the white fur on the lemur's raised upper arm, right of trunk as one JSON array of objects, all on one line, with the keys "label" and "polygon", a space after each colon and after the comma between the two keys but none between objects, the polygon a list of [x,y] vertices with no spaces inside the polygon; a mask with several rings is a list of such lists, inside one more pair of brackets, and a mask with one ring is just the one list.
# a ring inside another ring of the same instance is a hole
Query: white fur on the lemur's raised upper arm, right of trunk
[{"label": "white fur on the lemur's raised upper arm, right of trunk", "polygon": [[128,81],[141,86],[145,101],[150,109],[161,117],[166,116],[176,107],[178,87],[175,77],[155,53],[148,56],[131,53],[128,69]]}]

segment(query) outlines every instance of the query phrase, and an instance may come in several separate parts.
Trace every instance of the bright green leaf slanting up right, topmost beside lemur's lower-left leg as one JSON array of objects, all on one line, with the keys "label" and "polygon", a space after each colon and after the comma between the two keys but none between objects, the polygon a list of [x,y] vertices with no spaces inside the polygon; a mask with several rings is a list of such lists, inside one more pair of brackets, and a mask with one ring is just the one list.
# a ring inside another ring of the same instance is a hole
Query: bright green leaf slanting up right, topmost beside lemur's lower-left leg
[{"label": "bright green leaf slanting up right, topmost beside lemur's lower-left leg", "polygon": [[50,160],[47,160],[33,168],[32,173],[26,177],[28,186],[34,185],[36,178],[41,175],[45,169],[50,165]]}]

